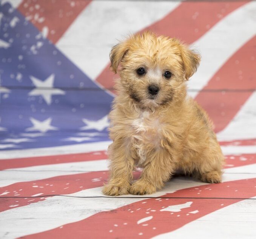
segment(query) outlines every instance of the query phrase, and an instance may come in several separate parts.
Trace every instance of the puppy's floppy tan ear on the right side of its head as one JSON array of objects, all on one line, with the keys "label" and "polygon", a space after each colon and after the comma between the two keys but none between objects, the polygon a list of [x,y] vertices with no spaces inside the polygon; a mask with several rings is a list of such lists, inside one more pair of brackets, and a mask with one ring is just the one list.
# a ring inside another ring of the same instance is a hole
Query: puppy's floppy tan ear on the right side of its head
[{"label": "puppy's floppy tan ear on the right side of its head", "polygon": [[181,45],[180,50],[183,61],[183,68],[185,71],[185,78],[188,80],[196,72],[201,60],[201,56],[195,51],[189,49],[186,45]]}]

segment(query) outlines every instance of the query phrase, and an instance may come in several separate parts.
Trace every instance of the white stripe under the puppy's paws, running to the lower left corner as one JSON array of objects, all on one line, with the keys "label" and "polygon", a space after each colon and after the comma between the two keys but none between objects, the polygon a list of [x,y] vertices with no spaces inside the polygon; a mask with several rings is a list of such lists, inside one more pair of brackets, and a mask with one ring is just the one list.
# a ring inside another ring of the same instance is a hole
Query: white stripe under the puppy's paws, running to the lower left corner
[{"label": "white stripe under the puppy's paws, running to the lower left corner", "polygon": [[[243,171],[246,170],[245,168]],[[228,171],[228,170],[227,170]],[[255,174],[235,174],[236,179],[253,178]],[[227,177],[226,177],[227,176]],[[230,176],[225,175],[225,180],[229,180]],[[225,181],[224,180],[224,181]],[[166,183],[163,190],[150,196],[161,196],[166,193],[173,193],[188,187],[197,187],[205,185],[199,181],[188,178],[174,178]],[[103,196],[101,187],[83,190],[77,193],[68,194],[69,196]],[[129,196],[129,195],[127,195]],[[130,195],[131,196],[131,195]],[[145,197],[142,196],[142,197]],[[139,202],[138,198],[69,198],[69,197],[50,197],[44,201],[40,201],[27,206],[12,208],[0,213],[0,238],[16,238],[28,234],[39,233],[60,227],[64,224],[83,220],[100,211],[109,211],[134,202]],[[27,216],[26,216],[27,215]],[[15,226],[14,226],[15,225]],[[27,227],[29,225],[29,227]],[[8,234],[6,233],[8,232]]]}]

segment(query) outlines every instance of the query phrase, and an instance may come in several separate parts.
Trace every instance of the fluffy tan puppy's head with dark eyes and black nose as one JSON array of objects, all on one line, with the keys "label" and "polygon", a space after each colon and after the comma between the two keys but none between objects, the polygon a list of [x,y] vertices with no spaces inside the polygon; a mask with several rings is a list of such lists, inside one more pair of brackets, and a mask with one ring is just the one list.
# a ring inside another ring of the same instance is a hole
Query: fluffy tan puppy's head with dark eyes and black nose
[{"label": "fluffy tan puppy's head with dark eyes and black nose", "polygon": [[114,46],[111,68],[120,65],[120,85],[142,107],[172,102],[196,71],[200,56],[177,39],[144,32]]}]

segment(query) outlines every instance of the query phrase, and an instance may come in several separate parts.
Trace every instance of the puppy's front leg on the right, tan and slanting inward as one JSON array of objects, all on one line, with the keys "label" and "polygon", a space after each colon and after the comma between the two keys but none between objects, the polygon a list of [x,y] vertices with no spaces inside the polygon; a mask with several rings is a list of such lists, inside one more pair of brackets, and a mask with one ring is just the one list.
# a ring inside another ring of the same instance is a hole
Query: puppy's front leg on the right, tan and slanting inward
[{"label": "puppy's front leg on the right, tan and slanting inward", "polygon": [[130,193],[134,195],[151,194],[161,189],[164,182],[170,179],[174,171],[174,162],[170,153],[163,149],[147,155],[150,159],[144,168],[140,179],[131,185]]}]

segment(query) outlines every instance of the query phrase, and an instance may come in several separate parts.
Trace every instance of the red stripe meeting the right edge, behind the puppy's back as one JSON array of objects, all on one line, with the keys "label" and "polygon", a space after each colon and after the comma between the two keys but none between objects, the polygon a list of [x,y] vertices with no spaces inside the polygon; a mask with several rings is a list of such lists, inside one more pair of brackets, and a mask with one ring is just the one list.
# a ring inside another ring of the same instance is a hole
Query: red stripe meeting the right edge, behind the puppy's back
[{"label": "red stripe meeting the right edge, behind the puppy's back", "polygon": [[[228,59],[196,97],[196,101],[208,112],[216,125],[216,132],[224,130],[253,93],[246,90],[256,89],[255,45],[256,37],[253,37]],[[228,91],[209,92],[209,89]]]}]

